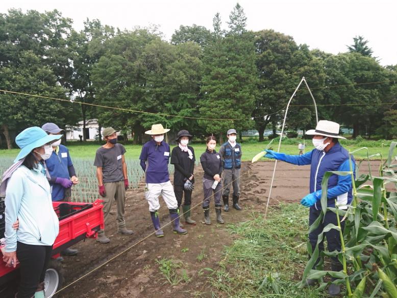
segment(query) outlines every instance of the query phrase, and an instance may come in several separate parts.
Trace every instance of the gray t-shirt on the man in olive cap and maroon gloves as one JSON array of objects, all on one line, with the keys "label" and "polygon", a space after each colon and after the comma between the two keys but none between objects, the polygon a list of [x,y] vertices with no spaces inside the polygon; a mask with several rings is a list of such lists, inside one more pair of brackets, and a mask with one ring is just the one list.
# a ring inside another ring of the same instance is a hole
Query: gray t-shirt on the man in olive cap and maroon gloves
[{"label": "gray t-shirt on the man in olive cap and maroon gloves", "polygon": [[94,166],[102,167],[104,183],[124,180],[122,156],[126,153],[123,145],[116,143],[112,148],[100,147],[96,151]]}]

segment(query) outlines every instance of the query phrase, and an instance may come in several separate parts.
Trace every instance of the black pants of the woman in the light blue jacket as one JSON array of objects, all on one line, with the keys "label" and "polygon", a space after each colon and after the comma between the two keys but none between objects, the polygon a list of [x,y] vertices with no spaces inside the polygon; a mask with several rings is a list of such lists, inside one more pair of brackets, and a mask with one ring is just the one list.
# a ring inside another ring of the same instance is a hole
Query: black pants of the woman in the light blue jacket
[{"label": "black pants of the woman in the light blue jacket", "polygon": [[31,298],[35,294],[38,284],[44,281],[52,250],[52,245],[29,245],[17,242],[16,257],[20,263],[21,276],[17,298]]}]

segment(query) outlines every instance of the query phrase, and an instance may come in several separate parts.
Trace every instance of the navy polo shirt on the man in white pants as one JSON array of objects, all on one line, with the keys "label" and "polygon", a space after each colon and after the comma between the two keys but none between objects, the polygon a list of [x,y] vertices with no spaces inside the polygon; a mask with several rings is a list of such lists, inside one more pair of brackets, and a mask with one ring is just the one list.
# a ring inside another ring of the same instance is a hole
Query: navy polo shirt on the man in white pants
[{"label": "navy polo shirt on the man in white pants", "polygon": [[169,145],[164,141],[157,145],[152,139],[143,145],[139,159],[146,162],[146,183],[169,181],[169,156]]}]

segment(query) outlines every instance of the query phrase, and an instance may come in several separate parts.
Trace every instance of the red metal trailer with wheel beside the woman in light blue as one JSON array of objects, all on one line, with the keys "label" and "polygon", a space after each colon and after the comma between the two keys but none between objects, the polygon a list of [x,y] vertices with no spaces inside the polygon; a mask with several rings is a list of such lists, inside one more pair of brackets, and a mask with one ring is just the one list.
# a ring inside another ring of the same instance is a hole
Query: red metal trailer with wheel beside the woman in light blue
[{"label": "red metal trailer with wheel beside the woman in light blue", "polygon": [[[59,234],[53,246],[53,256],[49,262],[45,274],[44,291],[45,297],[49,298],[62,288],[63,272],[62,266],[57,258],[60,252],[71,245],[84,240],[85,238],[96,238],[96,233],[104,228],[103,205],[101,200],[96,200],[92,204],[87,203],[65,203],[53,202],[54,210],[59,218]],[[0,201],[0,238],[4,237],[5,221],[4,201]],[[3,255],[0,252],[0,296],[5,297],[7,286],[12,281],[19,280],[18,265],[16,268],[6,267],[3,262]]]}]

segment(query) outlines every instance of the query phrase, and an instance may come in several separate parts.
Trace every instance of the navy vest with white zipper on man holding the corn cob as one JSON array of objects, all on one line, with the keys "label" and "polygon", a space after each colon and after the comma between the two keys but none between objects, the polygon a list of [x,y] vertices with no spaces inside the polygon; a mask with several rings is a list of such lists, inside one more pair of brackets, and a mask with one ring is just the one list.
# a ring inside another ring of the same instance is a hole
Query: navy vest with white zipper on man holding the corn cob
[{"label": "navy vest with white zipper on man holding the corn cob", "polygon": [[[322,177],[327,171],[337,171],[340,165],[349,159],[348,151],[343,148],[340,143],[336,143],[330,151],[312,151],[311,167],[310,167],[310,193],[321,189]],[[352,157],[352,164],[355,160]],[[338,184],[338,176],[332,175],[328,180],[328,188],[335,187]],[[353,187],[351,186],[346,194],[339,195],[337,199],[340,203],[351,204],[353,200]],[[346,202],[343,202],[346,201]],[[328,207],[335,207],[335,200],[328,198]],[[313,208],[321,210],[321,203],[318,201]]]}]

